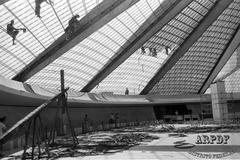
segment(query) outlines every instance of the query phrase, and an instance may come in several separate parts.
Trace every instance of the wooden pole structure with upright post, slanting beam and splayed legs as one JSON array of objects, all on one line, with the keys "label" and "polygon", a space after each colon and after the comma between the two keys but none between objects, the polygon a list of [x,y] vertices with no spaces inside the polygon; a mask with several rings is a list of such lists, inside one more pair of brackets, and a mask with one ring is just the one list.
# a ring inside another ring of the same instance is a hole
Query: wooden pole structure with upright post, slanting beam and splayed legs
[{"label": "wooden pole structure with upright post, slanting beam and splayed legs", "polygon": [[[38,146],[38,158],[41,158],[43,150],[49,158],[49,146],[55,143],[56,135],[63,133],[63,114],[65,114],[71,131],[73,147],[76,146],[78,144],[78,139],[75,135],[74,129],[72,128],[67,106],[66,92],[68,91],[68,89],[69,88],[64,88],[64,72],[63,70],[61,70],[61,92],[55,95],[50,100],[43,103],[42,105],[38,106],[32,112],[27,114],[23,119],[18,121],[7,132],[5,132],[4,135],[0,138],[0,145],[11,140],[17,133],[23,131],[25,135],[25,142],[23,147],[22,159],[35,159],[34,149],[36,146]],[[42,121],[41,113],[44,109],[48,108],[54,102],[61,102],[61,104],[57,107],[53,122],[54,126],[50,128],[49,132],[49,129],[46,127],[46,125],[44,125]],[[32,150],[30,153],[27,153],[27,149],[29,148],[29,141],[31,141],[30,148],[32,148]]]}]

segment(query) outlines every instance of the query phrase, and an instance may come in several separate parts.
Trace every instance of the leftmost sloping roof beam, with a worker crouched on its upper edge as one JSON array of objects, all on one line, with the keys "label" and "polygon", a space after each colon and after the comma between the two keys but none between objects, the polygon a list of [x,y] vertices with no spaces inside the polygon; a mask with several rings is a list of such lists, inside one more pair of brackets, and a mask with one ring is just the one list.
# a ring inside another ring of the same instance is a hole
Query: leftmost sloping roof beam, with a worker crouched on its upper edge
[{"label": "leftmost sloping roof beam, with a worker crouched on its upper edge", "polygon": [[67,41],[65,34],[63,34],[13,77],[13,80],[26,81],[138,1],[104,0],[80,20],[78,30],[70,40]]}]

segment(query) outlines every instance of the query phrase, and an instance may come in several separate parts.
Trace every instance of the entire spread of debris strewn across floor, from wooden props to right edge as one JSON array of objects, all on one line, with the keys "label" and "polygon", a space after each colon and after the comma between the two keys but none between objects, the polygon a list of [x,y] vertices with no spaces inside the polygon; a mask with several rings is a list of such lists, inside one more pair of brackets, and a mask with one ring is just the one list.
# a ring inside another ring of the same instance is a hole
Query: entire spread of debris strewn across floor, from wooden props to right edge
[{"label": "entire spread of debris strewn across floor, from wooden props to right edge", "polygon": [[[169,137],[186,137],[191,133],[221,133],[240,132],[239,125],[175,125],[175,124],[151,124],[144,126],[131,126],[112,129],[111,131],[99,131],[79,135],[76,146],[73,145],[71,136],[58,137],[48,147],[49,157],[42,151],[41,158],[56,159],[60,157],[94,156],[107,153],[116,153],[128,150],[130,147],[159,139],[153,136],[155,133],[168,134]],[[179,145],[179,144],[176,144]],[[43,147],[44,148],[44,147]],[[29,148],[29,151],[31,148]],[[37,157],[38,147],[35,147]],[[14,157],[15,159],[21,158]]]}]

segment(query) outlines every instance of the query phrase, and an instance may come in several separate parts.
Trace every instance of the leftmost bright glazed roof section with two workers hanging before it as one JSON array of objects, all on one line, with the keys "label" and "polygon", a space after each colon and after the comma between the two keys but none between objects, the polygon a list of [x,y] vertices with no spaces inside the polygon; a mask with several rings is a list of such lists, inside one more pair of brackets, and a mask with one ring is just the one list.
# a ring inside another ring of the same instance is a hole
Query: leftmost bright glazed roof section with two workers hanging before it
[{"label": "leftmost bright glazed roof section with two workers hanging before it", "polygon": [[[54,0],[51,6],[43,3],[41,16],[35,15],[35,0],[10,0],[0,6],[0,75],[12,78],[44,49],[64,33],[73,14],[85,16],[102,0]],[[16,28],[26,28],[20,32],[17,45],[6,33],[7,24],[15,21]]]}]

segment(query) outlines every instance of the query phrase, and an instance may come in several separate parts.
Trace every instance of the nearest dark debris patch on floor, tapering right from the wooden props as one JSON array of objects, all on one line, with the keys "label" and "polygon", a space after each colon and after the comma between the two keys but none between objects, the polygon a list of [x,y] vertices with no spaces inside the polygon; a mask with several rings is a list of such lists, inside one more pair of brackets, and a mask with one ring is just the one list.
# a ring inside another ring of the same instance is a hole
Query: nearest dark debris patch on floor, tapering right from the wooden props
[{"label": "nearest dark debris patch on floor, tapering right from the wooden props", "polygon": [[[96,132],[78,136],[79,144],[73,146],[72,138],[65,136],[56,139],[55,143],[49,146],[49,158],[46,152],[42,153],[41,158],[56,159],[60,157],[94,156],[115,153],[128,150],[130,147],[138,145],[141,142],[149,142],[158,138],[159,137],[151,136],[148,133]],[[37,155],[37,150],[38,148],[36,147],[35,155]],[[20,157],[15,156],[14,158]]]}]

